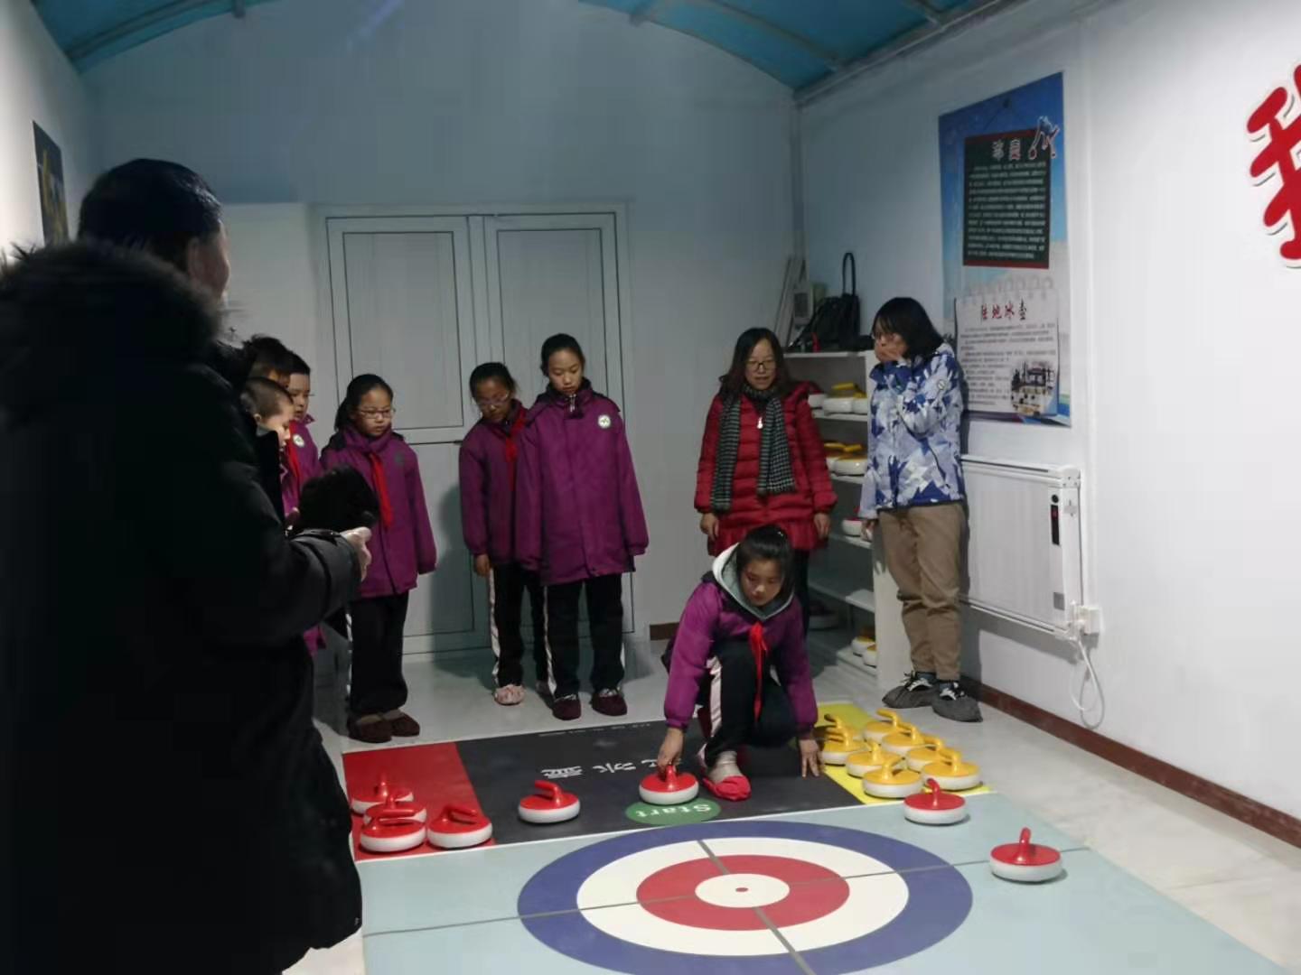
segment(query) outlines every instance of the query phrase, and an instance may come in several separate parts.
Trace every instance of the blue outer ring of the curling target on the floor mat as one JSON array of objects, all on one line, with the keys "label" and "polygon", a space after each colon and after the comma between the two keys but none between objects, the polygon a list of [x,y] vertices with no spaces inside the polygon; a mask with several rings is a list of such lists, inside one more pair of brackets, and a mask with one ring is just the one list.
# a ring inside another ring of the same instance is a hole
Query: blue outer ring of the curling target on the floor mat
[{"label": "blue outer ring of the curling target on the floor mat", "polygon": [[665,975],[680,971],[684,962],[693,959],[708,962],[714,975],[790,975],[791,957],[785,953],[729,957],[643,948],[605,933],[578,910],[579,887],[608,863],[669,842],[723,836],[842,846],[881,861],[908,885],[908,904],[889,924],[838,945],[800,952],[818,975],[844,975],[907,958],[948,937],[971,913],[972,889],[963,875],[912,844],[834,826],[723,822],[628,833],[566,854],[524,884],[518,905],[520,920],[533,937],[561,954],[631,975]]}]

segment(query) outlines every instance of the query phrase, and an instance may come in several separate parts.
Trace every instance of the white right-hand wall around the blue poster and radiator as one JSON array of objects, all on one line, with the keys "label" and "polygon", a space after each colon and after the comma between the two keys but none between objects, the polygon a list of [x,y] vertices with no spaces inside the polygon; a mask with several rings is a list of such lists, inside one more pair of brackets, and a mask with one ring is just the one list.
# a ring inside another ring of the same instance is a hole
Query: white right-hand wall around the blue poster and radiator
[{"label": "white right-hand wall around the blue poster and radiator", "polygon": [[[1075,425],[977,421],[969,450],[1085,469],[1101,733],[1298,814],[1301,780],[1267,770],[1298,728],[1301,270],[1261,226],[1245,125],[1291,78],[1301,6],[1132,0],[1063,22],[1082,6],[1029,4],[804,109],[813,273],[837,281],[852,248],[865,315],[912,294],[938,318],[938,116],[1066,72]],[[969,670],[1077,719],[1068,654],[977,625]]]}]

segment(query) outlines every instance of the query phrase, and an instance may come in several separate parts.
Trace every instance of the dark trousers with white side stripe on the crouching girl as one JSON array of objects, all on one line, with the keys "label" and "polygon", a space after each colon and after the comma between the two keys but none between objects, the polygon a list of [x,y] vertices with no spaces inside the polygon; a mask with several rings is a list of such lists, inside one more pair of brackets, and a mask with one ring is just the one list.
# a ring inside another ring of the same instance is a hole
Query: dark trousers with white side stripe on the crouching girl
[{"label": "dark trousers with white side stripe on the crouching girl", "polygon": [[749,641],[714,644],[708,680],[699,701],[704,710],[701,718],[709,722],[705,764],[712,766],[719,751],[735,751],[742,745],[778,748],[795,737],[791,699],[771,673],[764,673],[758,690],[758,718],[755,716],[757,685]]}]

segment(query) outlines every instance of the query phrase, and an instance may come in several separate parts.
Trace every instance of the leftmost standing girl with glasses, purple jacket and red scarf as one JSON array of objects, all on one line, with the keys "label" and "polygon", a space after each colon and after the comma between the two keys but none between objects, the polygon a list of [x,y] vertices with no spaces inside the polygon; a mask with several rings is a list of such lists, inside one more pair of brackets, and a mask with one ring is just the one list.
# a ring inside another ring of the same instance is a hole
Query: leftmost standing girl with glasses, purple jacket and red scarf
[{"label": "leftmost standing girl with glasses, purple jacket and red scarf", "polygon": [[379,376],[358,376],[334,417],[334,436],[321,451],[327,469],[349,465],[360,472],[379,500],[371,537],[371,571],[349,606],[353,636],[353,682],[347,732],[379,744],[394,734],[420,733],[402,711],[402,627],[418,576],[433,572],[437,551],[424,503],[415,451],[393,430],[393,389]]}]

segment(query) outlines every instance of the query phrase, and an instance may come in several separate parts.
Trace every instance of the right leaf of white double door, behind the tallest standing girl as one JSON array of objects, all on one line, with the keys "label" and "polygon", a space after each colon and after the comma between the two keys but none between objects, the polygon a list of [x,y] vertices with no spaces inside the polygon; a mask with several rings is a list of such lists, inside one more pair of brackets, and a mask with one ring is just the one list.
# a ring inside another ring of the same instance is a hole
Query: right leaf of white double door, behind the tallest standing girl
[{"label": "right leaf of white double door, behind the tallest standing girl", "polygon": [[[524,404],[546,386],[543,342],[563,332],[583,346],[596,390],[623,410],[615,214],[484,217],[483,237],[492,350],[519,384]],[[585,619],[585,606],[583,612]],[[627,576],[623,628],[634,629]]]}]

